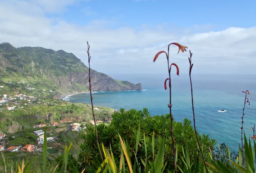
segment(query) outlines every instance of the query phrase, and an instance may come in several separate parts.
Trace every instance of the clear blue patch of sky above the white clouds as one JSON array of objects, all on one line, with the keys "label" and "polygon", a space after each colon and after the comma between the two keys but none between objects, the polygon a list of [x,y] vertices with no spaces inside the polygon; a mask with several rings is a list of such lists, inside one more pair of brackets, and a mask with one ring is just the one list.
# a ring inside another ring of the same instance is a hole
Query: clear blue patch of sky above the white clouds
[{"label": "clear blue patch of sky above the white clouds", "polygon": [[[86,25],[91,20],[116,20],[116,27],[140,29],[162,23],[180,28],[210,25],[213,31],[255,25],[255,0],[89,0],[74,3],[54,14],[70,23]],[[48,14],[52,16],[52,14]]]}]

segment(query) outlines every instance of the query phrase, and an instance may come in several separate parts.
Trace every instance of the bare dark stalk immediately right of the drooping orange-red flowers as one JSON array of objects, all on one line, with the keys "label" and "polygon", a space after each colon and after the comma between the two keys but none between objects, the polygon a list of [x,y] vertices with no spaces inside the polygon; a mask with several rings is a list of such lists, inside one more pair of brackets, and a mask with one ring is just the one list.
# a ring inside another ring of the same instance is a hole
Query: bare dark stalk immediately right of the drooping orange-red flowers
[{"label": "bare dark stalk immediately right of the drooping orange-red flowers", "polygon": [[204,154],[203,154],[203,151],[202,151],[199,139],[198,139],[198,134],[197,134],[197,131],[196,131],[196,127],[195,127],[195,110],[194,110],[193,88],[192,88],[192,80],[191,80],[191,71],[192,71],[193,64],[192,64],[192,53],[191,53],[190,50],[189,50],[189,55],[190,55],[190,57],[189,57],[189,79],[190,79],[190,87],[191,87],[191,102],[192,102],[192,111],[193,111],[195,136],[196,136],[196,139],[197,139],[197,142],[198,142],[199,150],[201,152],[201,155],[202,155],[202,158],[203,158],[203,161],[204,161],[205,169],[206,169],[206,171],[208,173],[206,162],[205,162],[205,159],[204,159]]}]

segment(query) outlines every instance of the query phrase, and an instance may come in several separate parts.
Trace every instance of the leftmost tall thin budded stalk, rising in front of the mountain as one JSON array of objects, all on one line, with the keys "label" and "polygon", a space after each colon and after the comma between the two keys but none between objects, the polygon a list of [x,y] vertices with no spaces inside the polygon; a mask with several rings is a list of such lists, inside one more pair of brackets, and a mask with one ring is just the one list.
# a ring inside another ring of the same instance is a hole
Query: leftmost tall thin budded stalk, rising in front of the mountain
[{"label": "leftmost tall thin budded stalk, rising in front of the mountain", "polygon": [[96,120],[95,120],[95,114],[94,114],[94,110],[93,110],[93,95],[92,95],[92,88],[91,88],[91,79],[90,79],[90,45],[87,42],[87,54],[88,54],[88,63],[89,63],[89,90],[90,90],[90,99],[91,99],[91,104],[92,104],[92,111],[93,111],[93,121],[94,121],[94,127],[95,127],[95,135],[96,135],[96,142],[99,148],[99,155],[100,158],[103,161],[103,157],[102,157],[102,153],[99,147],[99,140],[98,140],[98,133],[97,133],[97,126],[96,126]]}]

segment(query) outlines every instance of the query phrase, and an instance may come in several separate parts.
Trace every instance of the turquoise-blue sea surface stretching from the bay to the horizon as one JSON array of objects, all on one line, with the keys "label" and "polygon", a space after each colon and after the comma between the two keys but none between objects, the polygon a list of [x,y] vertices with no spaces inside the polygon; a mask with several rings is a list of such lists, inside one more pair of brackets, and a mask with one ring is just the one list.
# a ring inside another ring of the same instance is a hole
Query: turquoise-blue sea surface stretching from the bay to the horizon
[{"label": "turquoise-blue sea surface stretching from the bay to the horizon", "polygon": [[[168,74],[167,74],[168,75]],[[166,74],[119,74],[114,79],[141,82],[143,91],[111,91],[93,93],[93,104],[115,109],[148,108],[151,116],[169,112],[169,88],[164,89]],[[250,105],[245,107],[244,130],[252,136],[256,125],[256,75],[192,74],[196,126],[199,133],[209,134],[218,143],[237,151],[241,143],[241,116],[244,93],[250,91]],[[90,94],[76,94],[65,99],[90,104]],[[218,112],[219,110],[226,112]],[[172,74],[172,113],[175,121],[193,120],[189,76]]]}]

